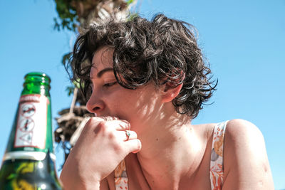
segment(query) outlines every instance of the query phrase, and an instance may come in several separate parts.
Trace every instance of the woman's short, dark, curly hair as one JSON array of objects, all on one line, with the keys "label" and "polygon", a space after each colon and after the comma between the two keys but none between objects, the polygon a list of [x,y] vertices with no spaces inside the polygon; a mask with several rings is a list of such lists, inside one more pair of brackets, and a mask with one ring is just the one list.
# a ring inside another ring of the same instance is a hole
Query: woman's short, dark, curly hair
[{"label": "woman's short, dark, curly hair", "polygon": [[67,67],[71,80],[78,80],[88,98],[90,68],[98,48],[114,49],[113,70],[124,88],[136,89],[150,81],[156,87],[182,85],[172,104],[180,114],[197,117],[202,104],[212,96],[217,83],[211,81],[202,51],[197,46],[196,29],[189,23],[157,14],[151,21],[140,16],[129,21],[110,19],[90,25],[74,45]]}]

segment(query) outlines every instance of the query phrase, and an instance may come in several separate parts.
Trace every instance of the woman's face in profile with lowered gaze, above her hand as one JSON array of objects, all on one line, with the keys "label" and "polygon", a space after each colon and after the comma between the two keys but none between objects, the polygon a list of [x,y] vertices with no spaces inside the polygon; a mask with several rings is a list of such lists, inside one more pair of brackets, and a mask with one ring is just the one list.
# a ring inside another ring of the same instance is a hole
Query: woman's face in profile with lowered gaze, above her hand
[{"label": "woman's face in profile with lowered gaze, above her hand", "polygon": [[136,90],[123,88],[113,73],[113,49],[102,47],[95,52],[90,70],[93,89],[86,107],[97,116],[115,116],[130,122],[137,133],[141,126],[155,122],[162,102],[154,85]]}]

